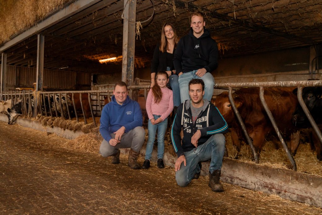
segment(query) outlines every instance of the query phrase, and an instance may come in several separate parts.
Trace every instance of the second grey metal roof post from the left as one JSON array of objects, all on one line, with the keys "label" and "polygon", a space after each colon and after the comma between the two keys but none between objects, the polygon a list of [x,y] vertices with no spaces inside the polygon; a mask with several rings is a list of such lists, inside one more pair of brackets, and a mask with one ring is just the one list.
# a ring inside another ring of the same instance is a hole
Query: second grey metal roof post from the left
[{"label": "second grey metal roof post from the left", "polygon": [[[36,69],[36,98],[34,106],[34,116],[37,117],[38,91],[43,90],[43,59],[44,59],[45,36],[38,34],[37,40],[37,69]],[[41,107],[40,107],[41,108]]]}]

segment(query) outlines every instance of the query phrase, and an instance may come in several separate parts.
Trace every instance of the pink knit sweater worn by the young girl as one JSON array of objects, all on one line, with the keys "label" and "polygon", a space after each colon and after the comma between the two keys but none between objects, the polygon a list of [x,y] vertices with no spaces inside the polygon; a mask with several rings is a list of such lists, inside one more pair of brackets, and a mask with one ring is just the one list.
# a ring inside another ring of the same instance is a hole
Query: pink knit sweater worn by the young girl
[{"label": "pink knit sweater worn by the young girl", "polygon": [[153,114],[161,115],[162,121],[164,121],[173,110],[173,93],[167,87],[161,87],[162,99],[156,104],[154,102],[154,96],[152,90],[150,89],[147,94],[147,115],[149,120],[154,119]]}]

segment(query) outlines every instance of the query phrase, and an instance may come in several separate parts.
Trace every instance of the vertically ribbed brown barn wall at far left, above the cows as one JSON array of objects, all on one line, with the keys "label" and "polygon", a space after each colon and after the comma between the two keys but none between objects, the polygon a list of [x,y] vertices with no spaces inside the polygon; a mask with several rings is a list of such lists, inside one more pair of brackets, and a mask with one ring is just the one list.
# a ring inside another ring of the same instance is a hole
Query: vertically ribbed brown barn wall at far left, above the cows
[{"label": "vertically ribbed brown barn wall at far left, above the cows", "polygon": [[[33,87],[36,82],[36,68],[7,66],[6,89]],[[44,69],[43,86],[48,90],[89,90],[91,74],[73,71]]]}]

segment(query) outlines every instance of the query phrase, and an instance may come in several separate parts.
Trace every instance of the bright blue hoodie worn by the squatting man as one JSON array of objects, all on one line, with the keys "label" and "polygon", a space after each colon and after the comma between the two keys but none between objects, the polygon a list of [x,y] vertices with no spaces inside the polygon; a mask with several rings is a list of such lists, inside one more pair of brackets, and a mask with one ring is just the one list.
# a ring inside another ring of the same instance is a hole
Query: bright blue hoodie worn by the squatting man
[{"label": "bright blue hoodie worn by the squatting man", "polygon": [[112,139],[111,133],[116,132],[122,126],[125,127],[125,132],[128,132],[135,127],[142,126],[142,111],[139,103],[127,97],[122,105],[119,105],[115,96],[112,101],[106,104],[102,110],[100,118],[99,132],[107,142]]}]

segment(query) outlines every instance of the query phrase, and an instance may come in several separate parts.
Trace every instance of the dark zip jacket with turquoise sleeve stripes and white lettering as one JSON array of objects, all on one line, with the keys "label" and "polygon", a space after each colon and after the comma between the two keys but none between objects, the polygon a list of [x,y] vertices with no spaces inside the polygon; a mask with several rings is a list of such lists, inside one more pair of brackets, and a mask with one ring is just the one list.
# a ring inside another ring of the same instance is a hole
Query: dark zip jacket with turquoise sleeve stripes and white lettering
[{"label": "dark zip jacket with turquoise sleeve stripes and white lettering", "polygon": [[[212,103],[206,99],[204,100],[203,109],[194,124],[190,105],[190,99],[179,105],[171,128],[171,140],[178,157],[184,155],[184,152],[195,148],[191,143],[191,137],[198,129],[201,132],[198,145],[205,143],[213,134],[228,132],[227,122]],[[183,129],[182,144],[181,128]]]}]

